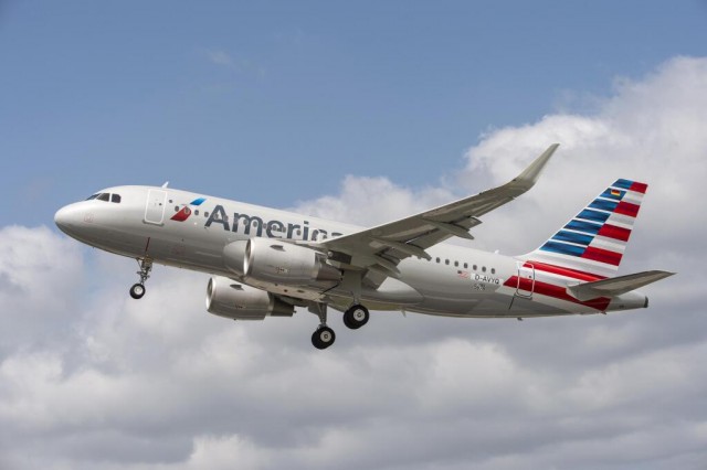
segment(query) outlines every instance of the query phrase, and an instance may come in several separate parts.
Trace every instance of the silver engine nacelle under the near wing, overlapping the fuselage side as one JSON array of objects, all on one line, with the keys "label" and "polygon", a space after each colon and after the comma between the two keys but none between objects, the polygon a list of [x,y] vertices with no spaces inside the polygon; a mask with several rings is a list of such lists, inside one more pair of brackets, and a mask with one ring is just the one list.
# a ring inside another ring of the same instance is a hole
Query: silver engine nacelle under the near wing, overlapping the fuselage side
[{"label": "silver engine nacelle under the near wing, overlapping the fuselage side", "polygon": [[341,280],[341,271],[324,254],[266,238],[247,241],[243,273],[247,279],[285,286],[333,287]]}]

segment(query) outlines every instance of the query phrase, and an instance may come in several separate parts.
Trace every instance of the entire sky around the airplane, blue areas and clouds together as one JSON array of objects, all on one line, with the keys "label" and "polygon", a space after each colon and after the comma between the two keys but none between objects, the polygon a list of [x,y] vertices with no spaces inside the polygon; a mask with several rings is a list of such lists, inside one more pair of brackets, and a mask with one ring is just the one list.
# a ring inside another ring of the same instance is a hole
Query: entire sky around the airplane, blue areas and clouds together
[{"label": "entire sky around the airplane, blue areas and clouds together", "polygon": [[[704,469],[707,3],[0,3],[0,469]],[[372,224],[560,142],[474,246],[528,252],[618,177],[651,308],[239,323],[207,277],[66,238],[161,184]]]}]

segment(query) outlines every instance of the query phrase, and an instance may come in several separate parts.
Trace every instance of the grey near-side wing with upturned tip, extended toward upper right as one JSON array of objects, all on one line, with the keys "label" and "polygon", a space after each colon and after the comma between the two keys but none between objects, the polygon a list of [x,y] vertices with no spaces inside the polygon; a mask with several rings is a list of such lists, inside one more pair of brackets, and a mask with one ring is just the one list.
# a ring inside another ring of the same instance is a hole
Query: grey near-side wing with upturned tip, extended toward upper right
[{"label": "grey near-side wing with upturned tip, extended toward upper right", "polygon": [[373,269],[394,277],[399,274],[398,263],[409,256],[430,259],[425,249],[440,242],[452,236],[473,239],[468,231],[482,223],[478,217],[532,188],[558,147],[559,143],[551,145],[518,177],[500,186],[395,222],[306,244],[326,249],[345,267]]}]

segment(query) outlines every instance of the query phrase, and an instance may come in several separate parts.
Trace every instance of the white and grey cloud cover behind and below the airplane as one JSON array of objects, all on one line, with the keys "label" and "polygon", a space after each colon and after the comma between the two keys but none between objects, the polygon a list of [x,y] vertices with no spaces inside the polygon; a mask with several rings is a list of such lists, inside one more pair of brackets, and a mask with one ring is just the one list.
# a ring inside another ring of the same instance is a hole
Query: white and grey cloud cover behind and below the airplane
[{"label": "white and grey cloud cover behind and below the airplane", "polygon": [[[707,60],[619,81],[595,114],[489,131],[460,177],[479,191],[562,147],[538,185],[484,217],[478,246],[535,247],[615,177],[651,189],[626,270],[666,268],[653,307],[509,322],[374,313],[315,351],[314,316],[204,311],[205,276],[44,227],[0,229],[2,469],[701,468],[707,460]],[[366,191],[361,191],[366,188]],[[380,223],[451,200],[348,177],[314,215]],[[373,210],[374,209],[374,210]],[[96,253],[96,252],[92,252]],[[86,288],[89,286],[91,288]]]}]

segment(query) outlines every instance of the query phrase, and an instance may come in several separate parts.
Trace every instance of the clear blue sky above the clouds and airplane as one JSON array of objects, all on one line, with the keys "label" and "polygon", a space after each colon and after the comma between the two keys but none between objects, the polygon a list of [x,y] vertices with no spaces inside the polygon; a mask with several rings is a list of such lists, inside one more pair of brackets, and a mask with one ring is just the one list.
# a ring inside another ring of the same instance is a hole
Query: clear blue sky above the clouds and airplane
[{"label": "clear blue sky above the clouds and airplane", "polygon": [[346,174],[422,188],[704,44],[696,1],[8,1],[0,222],[166,180],[275,206]]}]

